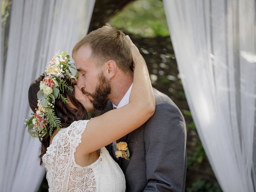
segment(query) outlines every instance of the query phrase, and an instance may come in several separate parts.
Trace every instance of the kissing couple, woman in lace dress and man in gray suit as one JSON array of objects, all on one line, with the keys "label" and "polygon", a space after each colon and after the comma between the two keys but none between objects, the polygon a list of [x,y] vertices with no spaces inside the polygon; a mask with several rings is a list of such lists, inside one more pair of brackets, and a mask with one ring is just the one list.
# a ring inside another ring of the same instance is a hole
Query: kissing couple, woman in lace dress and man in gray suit
[{"label": "kissing couple, woman in lace dress and man in gray suit", "polygon": [[[186,124],[152,88],[129,36],[105,25],[58,52],[29,88],[28,132],[42,142],[49,192],[184,192]],[[102,110],[88,120],[87,113]]]}]

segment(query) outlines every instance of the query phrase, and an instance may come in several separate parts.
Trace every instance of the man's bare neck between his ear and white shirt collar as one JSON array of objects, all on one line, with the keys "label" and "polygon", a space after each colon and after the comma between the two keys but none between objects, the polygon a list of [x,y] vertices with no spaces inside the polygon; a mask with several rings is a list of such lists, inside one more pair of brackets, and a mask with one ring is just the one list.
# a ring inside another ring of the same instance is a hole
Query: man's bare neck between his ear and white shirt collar
[{"label": "man's bare neck between his ear and white shirt collar", "polygon": [[120,103],[133,82],[133,76],[116,77],[111,83],[111,94],[108,99],[116,106]]}]

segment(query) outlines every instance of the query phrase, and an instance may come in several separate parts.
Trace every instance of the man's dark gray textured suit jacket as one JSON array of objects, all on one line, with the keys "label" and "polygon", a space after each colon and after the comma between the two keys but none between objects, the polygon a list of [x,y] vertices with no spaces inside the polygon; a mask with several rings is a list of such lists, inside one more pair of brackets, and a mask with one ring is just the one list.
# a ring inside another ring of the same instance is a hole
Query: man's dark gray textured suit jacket
[{"label": "man's dark gray textured suit jacket", "polygon": [[[120,139],[127,142],[130,161],[116,160],[126,178],[126,192],[184,192],[186,180],[186,123],[165,94],[154,89],[156,110],[140,128]],[[109,102],[105,110],[112,110]],[[132,120],[132,119],[131,119]]]}]

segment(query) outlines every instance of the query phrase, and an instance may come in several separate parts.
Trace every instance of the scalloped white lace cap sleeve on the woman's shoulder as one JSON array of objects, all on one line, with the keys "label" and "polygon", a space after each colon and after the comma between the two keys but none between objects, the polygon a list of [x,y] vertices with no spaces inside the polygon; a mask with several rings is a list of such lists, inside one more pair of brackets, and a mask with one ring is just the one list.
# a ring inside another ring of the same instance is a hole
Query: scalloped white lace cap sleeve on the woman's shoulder
[{"label": "scalloped white lace cap sleeve on the woman's shoulder", "polygon": [[76,125],[70,129],[70,144],[74,147],[75,151],[78,144],[81,143],[82,133],[86,129],[88,121],[89,120],[79,120]]}]

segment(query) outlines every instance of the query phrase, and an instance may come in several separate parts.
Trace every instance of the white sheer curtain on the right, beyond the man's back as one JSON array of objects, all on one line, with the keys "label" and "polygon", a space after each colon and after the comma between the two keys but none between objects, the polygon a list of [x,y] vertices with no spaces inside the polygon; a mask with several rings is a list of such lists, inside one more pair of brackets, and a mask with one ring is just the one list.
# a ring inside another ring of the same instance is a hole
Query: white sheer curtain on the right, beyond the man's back
[{"label": "white sheer curtain on the right, beyond the man's back", "polygon": [[164,0],[198,134],[224,192],[254,192],[254,0]]}]

